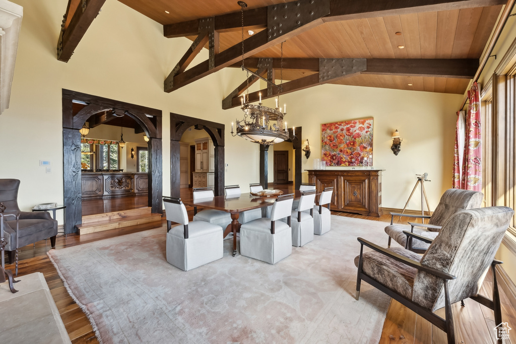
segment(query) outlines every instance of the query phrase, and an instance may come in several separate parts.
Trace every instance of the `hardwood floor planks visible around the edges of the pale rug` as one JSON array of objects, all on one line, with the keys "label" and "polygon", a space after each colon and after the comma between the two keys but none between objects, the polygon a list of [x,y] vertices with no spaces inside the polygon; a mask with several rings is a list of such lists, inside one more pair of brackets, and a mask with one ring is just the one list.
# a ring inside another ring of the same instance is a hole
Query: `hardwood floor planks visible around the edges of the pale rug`
[{"label": "hardwood floor planks visible around the edges of the pale rug", "polygon": [[[279,186],[277,188],[280,188]],[[284,189],[284,186],[281,186]],[[182,189],[181,194],[185,196],[191,189]],[[192,216],[191,213],[189,213]],[[332,215],[354,217],[360,219],[390,222],[389,215],[383,215],[380,218],[365,217],[357,214],[348,214],[345,212],[332,211]],[[395,219],[397,223],[406,223],[409,218]],[[152,224],[142,224],[123,230],[111,230],[100,233],[87,235],[68,235],[67,238],[59,237],[56,241],[56,249],[71,247],[73,245],[83,244],[86,242],[102,240],[123,234],[130,234],[140,231],[146,231],[151,228]],[[165,220],[162,221],[165,226]],[[386,244],[386,243],[385,243]],[[46,252],[49,251],[50,240],[40,241],[33,245],[27,245],[20,249],[19,257],[19,275],[25,275],[33,272],[42,272],[45,276],[47,284],[51,290],[54,301],[65,327],[70,335],[73,343],[97,343],[91,324],[83,313],[82,309],[73,301],[68,294],[63,282],[61,281],[54,265],[51,263]],[[7,259],[7,257],[6,257]],[[6,265],[7,269],[14,270],[14,265]],[[5,287],[2,285],[2,287]],[[491,297],[492,290],[491,276],[488,274],[482,285],[481,293]],[[514,327],[516,325],[516,312],[509,303],[503,290],[501,290],[503,320]],[[480,306],[473,300],[464,300],[466,306],[461,307],[460,303],[453,305],[454,323],[457,343],[495,343],[494,341],[494,314],[492,310]],[[440,316],[444,317],[444,309],[438,310]],[[397,301],[391,301],[389,310],[383,324],[380,343],[445,343],[446,335],[437,327],[431,325],[422,317],[416,315],[410,309],[404,307]],[[516,330],[510,332],[510,341],[505,343],[516,344]]]}]

